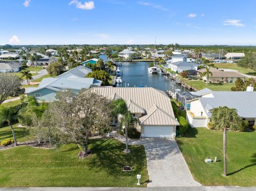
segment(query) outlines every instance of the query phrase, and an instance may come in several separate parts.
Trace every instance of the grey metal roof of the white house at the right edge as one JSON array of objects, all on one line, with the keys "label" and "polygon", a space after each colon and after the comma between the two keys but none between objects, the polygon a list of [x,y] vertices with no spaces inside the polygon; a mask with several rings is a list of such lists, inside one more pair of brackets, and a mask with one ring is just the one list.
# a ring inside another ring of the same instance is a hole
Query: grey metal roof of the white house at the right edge
[{"label": "grey metal roof of the white house at the right edge", "polygon": [[212,95],[198,98],[206,110],[227,106],[236,109],[242,118],[256,118],[256,92],[212,92]]}]

